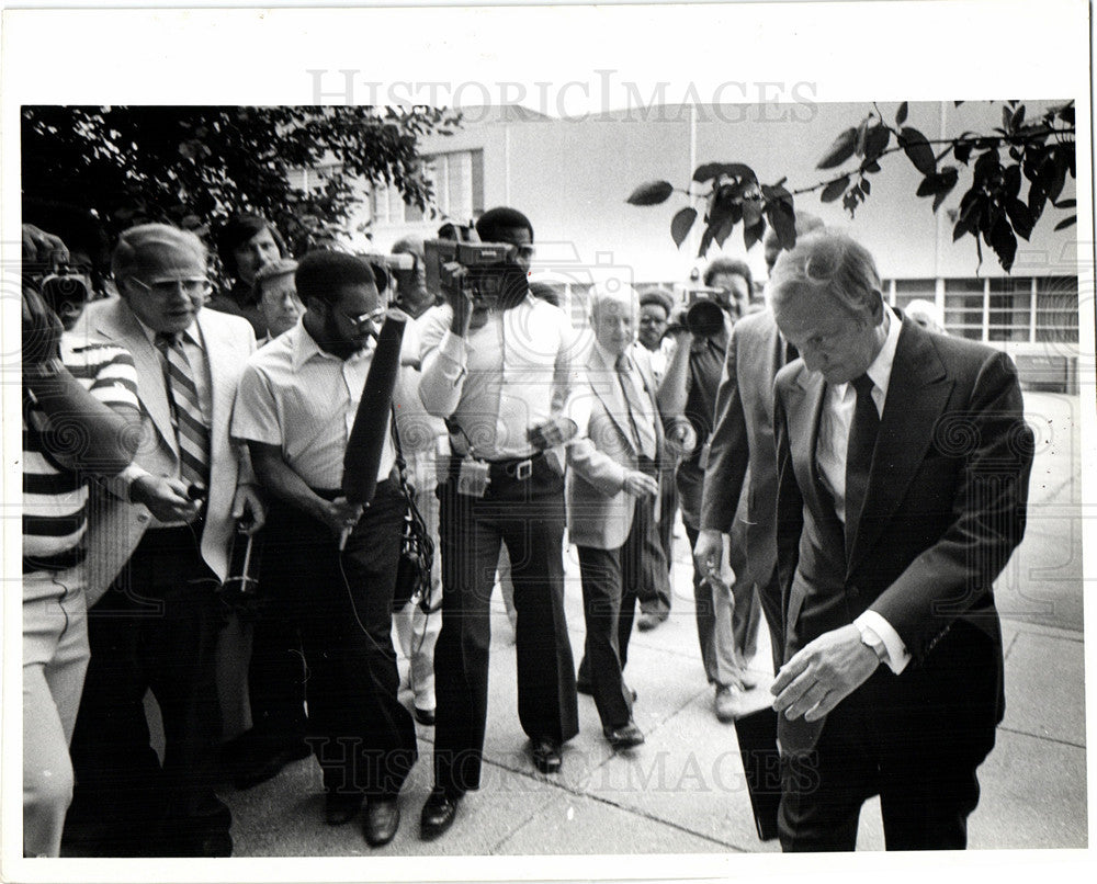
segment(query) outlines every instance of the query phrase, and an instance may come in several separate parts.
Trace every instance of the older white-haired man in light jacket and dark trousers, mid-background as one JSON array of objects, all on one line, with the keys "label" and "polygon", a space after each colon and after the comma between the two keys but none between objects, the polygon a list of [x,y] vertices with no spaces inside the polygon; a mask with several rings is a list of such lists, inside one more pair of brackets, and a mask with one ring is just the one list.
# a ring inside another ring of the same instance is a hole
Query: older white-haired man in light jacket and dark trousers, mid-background
[{"label": "older white-haired man in light jacket and dark trousers, mid-background", "polygon": [[593,694],[614,749],[644,741],[622,675],[637,587],[646,573],[656,591],[670,593],[655,524],[664,445],[655,379],[643,360],[630,355],[638,309],[631,285],[599,284],[591,292],[595,343],[576,394],[577,407],[588,413],[577,418],[579,437],[567,451],[567,520],[579,549],[587,624],[579,690]]}]

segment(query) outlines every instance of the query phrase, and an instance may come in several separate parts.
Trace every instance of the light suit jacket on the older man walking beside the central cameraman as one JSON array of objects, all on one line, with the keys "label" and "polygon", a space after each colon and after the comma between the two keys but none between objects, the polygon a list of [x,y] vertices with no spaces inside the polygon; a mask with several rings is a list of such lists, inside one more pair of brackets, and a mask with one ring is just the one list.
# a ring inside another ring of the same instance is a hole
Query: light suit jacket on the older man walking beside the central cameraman
[{"label": "light suit jacket on the older man walking beside the central cameraman", "polygon": [[[655,403],[655,379],[644,360],[632,360],[652,405],[655,420],[656,463],[663,458],[663,421]],[[623,490],[624,478],[636,468],[640,452],[632,441],[629,407],[617,367],[593,347],[585,379],[573,397],[589,405],[587,432],[568,445],[567,519],[572,543],[596,549],[617,549],[632,529],[635,498]],[[584,408],[585,410],[585,408]],[[658,501],[656,501],[658,512]]]}]

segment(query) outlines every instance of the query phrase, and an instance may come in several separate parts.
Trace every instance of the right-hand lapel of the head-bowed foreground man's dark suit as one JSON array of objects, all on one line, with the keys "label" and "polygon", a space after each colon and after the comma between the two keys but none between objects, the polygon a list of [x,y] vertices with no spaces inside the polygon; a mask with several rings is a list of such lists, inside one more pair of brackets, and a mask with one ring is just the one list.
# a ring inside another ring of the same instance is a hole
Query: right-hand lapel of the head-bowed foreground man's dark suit
[{"label": "right-hand lapel of the head-bowed foreground man's dark suit", "polygon": [[850,573],[872,548],[906,495],[932,442],[952,386],[929,336],[904,320],[880,418],[864,509],[849,555]]}]

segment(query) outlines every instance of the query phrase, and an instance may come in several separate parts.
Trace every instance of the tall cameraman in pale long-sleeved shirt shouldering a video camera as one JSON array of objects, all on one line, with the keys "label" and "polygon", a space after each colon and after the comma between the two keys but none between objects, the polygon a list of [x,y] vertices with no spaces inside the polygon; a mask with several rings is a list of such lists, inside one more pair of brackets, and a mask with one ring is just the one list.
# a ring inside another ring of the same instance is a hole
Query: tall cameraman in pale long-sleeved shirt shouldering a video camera
[{"label": "tall cameraman in pale long-sleeved shirt shouldering a video camera", "polygon": [[538,770],[557,772],[561,745],[578,733],[564,615],[563,464],[550,450],[575,433],[561,410],[576,335],[562,309],[530,294],[529,219],[493,208],[476,231],[482,245],[451,243],[463,262],[441,267],[448,303],[428,311],[421,329],[419,395],[430,413],[446,419],[452,450],[438,490],[442,632],[425,840],[446,831],[464,793],[479,787],[491,577],[501,544],[513,563],[518,712]]}]

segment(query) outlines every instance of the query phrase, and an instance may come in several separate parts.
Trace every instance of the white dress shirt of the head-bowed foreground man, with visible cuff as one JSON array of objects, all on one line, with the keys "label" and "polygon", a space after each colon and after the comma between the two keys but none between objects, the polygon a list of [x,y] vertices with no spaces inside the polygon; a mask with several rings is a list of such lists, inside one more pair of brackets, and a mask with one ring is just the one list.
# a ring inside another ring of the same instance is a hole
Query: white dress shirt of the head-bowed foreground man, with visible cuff
[{"label": "white dress shirt of the head-bowed foreground man, with visible cuff", "polygon": [[[892,364],[895,362],[895,348],[898,345],[898,335],[902,324],[889,308],[884,308],[887,321],[887,335],[877,358],[869,365],[866,374],[872,379],[872,401],[877,412],[883,416],[884,403],[887,401],[887,385],[891,382]],[[819,437],[815,447],[815,460],[819,477],[834,498],[834,509],[841,523],[846,523],[846,450],[849,444],[849,430],[857,409],[857,390],[850,384],[828,384],[823,403],[823,413],[819,416]],[[898,675],[911,661],[911,654],[894,627],[875,611],[868,610],[853,621],[861,632],[866,644],[875,646],[882,643],[886,655],[884,662]]]}]

